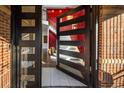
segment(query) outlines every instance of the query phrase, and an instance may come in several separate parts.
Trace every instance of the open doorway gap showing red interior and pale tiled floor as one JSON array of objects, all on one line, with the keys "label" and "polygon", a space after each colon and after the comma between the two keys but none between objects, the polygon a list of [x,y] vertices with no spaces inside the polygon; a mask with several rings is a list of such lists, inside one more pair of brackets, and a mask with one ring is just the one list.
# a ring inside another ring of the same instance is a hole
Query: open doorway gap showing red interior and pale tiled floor
[{"label": "open doorway gap showing red interior and pale tiled floor", "polygon": [[[87,87],[84,83],[56,68],[59,61],[57,59],[57,17],[76,7],[78,6],[42,6],[42,87]],[[71,16],[68,16],[67,19],[71,19]],[[70,36],[67,36],[66,39],[71,40]],[[76,46],[61,46],[61,48],[77,49]],[[63,57],[69,58],[68,55],[63,55]]]}]

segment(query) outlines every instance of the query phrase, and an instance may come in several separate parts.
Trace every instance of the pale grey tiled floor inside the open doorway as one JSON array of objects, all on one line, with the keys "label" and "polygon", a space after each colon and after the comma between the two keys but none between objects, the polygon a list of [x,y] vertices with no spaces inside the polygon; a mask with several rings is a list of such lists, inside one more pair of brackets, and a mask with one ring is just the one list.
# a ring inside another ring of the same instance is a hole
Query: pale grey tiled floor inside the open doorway
[{"label": "pale grey tiled floor inside the open doorway", "polygon": [[43,67],[42,87],[86,87],[86,85],[54,67]]}]

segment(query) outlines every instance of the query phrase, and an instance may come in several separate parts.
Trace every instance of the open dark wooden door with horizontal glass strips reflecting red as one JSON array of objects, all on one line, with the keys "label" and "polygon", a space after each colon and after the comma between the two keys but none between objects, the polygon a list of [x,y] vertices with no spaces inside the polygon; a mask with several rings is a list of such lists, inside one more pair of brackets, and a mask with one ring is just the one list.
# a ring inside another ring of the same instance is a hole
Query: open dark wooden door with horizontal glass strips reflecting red
[{"label": "open dark wooden door with horizontal glass strips reflecting red", "polygon": [[57,17],[57,67],[90,85],[90,6]]}]

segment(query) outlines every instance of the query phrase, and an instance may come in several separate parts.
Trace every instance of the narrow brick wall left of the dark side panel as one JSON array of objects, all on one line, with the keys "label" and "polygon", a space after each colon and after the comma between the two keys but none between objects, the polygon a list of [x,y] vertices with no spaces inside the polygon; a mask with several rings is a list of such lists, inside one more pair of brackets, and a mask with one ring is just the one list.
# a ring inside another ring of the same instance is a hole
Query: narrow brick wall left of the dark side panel
[{"label": "narrow brick wall left of the dark side panel", "polygon": [[10,15],[0,10],[0,88],[10,87]]}]

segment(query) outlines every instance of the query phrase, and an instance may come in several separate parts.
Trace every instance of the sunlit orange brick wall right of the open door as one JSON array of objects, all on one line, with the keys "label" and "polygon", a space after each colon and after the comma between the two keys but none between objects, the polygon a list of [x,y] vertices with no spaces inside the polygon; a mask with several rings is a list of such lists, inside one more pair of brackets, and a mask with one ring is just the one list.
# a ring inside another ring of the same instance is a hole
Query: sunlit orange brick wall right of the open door
[{"label": "sunlit orange brick wall right of the open door", "polygon": [[105,20],[100,15],[98,35],[99,87],[124,87],[124,13]]}]

